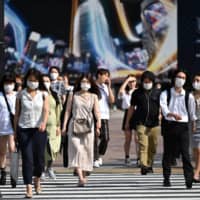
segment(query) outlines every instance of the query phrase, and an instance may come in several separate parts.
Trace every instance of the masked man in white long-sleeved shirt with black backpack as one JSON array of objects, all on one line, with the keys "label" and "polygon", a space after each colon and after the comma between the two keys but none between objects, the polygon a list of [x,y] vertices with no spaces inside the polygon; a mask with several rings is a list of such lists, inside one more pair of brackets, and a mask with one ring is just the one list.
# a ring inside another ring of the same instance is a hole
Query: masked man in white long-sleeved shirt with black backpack
[{"label": "masked man in white long-sleeved shirt with black backpack", "polygon": [[[185,184],[187,189],[192,188],[193,167],[189,154],[189,121],[192,121],[195,130],[195,100],[191,93],[184,89],[187,75],[177,70],[173,78],[173,86],[165,90],[160,96],[160,106],[163,120],[161,123],[164,152],[163,152],[163,186],[171,186],[171,161],[178,153],[182,157]],[[170,99],[169,99],[170,96]]]}]

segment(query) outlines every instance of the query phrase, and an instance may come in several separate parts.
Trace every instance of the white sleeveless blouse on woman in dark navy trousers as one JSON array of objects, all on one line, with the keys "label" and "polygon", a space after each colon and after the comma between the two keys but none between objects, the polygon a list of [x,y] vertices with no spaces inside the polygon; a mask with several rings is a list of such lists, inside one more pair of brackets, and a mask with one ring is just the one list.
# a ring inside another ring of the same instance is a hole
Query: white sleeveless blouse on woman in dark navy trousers
[{"label": "white sleeveless blouse on woman in dark navy trousers", "polygon": [[44,98],[47,95],[46,92],[37,90],[32,97],[26,89],[18,94],[21,107],[18,125],[21,128],[39,128],[43,120]]}]

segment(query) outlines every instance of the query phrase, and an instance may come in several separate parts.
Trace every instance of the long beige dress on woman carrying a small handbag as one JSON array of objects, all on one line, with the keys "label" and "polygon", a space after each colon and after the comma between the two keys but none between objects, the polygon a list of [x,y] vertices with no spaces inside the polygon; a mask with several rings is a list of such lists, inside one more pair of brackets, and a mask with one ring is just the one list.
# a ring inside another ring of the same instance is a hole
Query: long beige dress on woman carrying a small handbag
[{"label": "long beige dress on woman carrying a small handbag", "polygon": [[[74,118],[84,118],[88,115],[88,109],[94,106],[95,95],[89,95],[86,99],[77,93],[73,97],[72,115]],[[73,117],[69,122],[68,128],[68,153],[69,168],[79,167],[83,171],[93,170],[94,152],[94,121],[92,119],[92,132],[76,136],[72,132]]]}]

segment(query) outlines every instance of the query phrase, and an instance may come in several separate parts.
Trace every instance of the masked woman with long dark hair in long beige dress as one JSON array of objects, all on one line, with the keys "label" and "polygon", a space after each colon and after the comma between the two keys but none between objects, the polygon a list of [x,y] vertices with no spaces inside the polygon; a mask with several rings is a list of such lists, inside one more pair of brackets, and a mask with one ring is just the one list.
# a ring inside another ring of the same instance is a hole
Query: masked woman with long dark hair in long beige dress
[{"label": "masked woman with long dark hair in long beige dress", "polygon": [[[101,127],[98,96],[99,91],[95,82],[88,75],[82,75],[75,85],[74,95],[69,98],[65,112],[62,133],[68,126],[68,166],[74,168],[79,176],[78,186],[83,187],[87,182],[86,173],[93,170],[94,132],[99,134]],[[72,112],[72,117],[70,118]],[[95,120],[94,120],[95,117]],[[91,132],[81,135],[74,134],[73,123],[75,119],[90,119]],[[94,124],[94,121],[96,124]],[[94,130],[96,128],[96,131]]]}]

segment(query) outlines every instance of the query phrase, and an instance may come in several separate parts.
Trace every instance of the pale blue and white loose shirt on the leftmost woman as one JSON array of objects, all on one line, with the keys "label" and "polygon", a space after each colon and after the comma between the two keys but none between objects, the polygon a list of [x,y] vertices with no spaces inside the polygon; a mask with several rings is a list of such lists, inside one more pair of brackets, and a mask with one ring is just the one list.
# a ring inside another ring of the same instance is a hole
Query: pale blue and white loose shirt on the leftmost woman
[{"label": "pale blue and white loose shirt on the leftmost woman", "polygon": [[[16,95],[16,92],[6,95],[12,114],[15,114]],[[3,93],[0,92],[0,135],[10,135],[13,132],[8,106]]]}]

